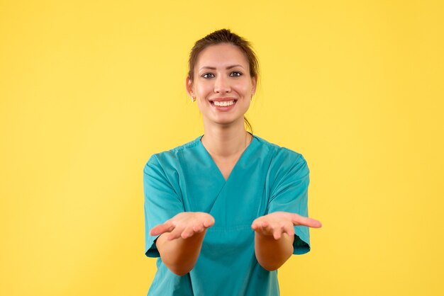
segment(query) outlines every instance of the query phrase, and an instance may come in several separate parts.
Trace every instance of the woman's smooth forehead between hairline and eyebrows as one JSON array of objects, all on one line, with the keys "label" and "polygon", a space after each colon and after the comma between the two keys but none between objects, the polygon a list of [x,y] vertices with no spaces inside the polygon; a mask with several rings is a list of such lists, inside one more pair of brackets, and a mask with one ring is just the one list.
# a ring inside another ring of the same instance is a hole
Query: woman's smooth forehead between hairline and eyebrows
[{"label": "woman's smooth forehead between hairline and eyebrows", "polygon": [[241,64],[248,69],[248,59],[239,47],[228,43],[210,45],[202,50],[196,62],[197,69],[201,67],[225,67]]}]

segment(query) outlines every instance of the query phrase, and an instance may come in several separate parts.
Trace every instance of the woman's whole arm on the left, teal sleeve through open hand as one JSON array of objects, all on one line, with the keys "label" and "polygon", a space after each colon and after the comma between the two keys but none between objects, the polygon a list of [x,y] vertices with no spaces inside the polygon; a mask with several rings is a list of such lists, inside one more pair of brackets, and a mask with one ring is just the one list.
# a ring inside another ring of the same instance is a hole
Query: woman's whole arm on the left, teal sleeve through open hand
[{"label": "woman's whole arm on the left, teal sleeve through open hand", "polygon": [[145,254],[160,256],[170,271],[184,275],[194,267],[214,219],[205,212],[185,212],[179,188],[165,171],[156,155],[143,170]]}]

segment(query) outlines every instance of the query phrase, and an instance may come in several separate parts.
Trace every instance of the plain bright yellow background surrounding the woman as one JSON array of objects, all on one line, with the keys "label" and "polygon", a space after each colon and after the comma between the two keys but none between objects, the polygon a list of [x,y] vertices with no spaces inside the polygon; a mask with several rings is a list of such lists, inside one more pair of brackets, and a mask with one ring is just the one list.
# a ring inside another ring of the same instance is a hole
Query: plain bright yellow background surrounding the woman
[{"label": "plain bright yellow background surrounding the woman", "polygon": [[196,40],[231,28],[256,135],[311,169],[282,295],[444,295],[442,1],[0,1],[0,295],[146,295],[143,166],[203,132]]}]

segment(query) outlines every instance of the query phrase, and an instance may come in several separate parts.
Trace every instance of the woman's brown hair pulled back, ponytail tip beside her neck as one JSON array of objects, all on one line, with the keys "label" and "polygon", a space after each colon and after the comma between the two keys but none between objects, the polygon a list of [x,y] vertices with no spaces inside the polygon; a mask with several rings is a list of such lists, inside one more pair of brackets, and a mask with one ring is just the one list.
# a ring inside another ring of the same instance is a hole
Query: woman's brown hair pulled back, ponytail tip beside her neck
[{"label": "woman's brown hair pulled back, ponytail tip beside her neck", "polygon": [[[250,66],[250,76],[255,77],[257,83],[259,62],[254,50],[252,50],[250,42],[235,33],[231,33],[229,29],[216,30],[211,34],[206,35],[204,38],[196,41],[188,59],[189,80],[194,80],[194,66],[196,66],[197,59],[202,50],[210,45],[218,45],[221,43],[235,45],[245,54],[245,57],[248,60],[248,65]],[[243,120],[245,121],[245,125],[247,125],[248,129],[252,133],[252,126],[250,122],[247,120],[247,118],[245,118],[245,116]]]}]

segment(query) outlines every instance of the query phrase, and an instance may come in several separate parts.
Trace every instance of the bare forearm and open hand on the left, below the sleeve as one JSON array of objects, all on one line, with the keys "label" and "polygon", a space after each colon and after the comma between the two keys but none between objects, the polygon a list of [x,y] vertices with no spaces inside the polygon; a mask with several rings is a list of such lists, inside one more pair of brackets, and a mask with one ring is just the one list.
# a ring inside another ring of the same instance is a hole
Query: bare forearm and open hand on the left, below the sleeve
[{"label": "bare forearm and open hand on the left, below the sleeve", "polygon": [[206,229],[214,224],[214,218],[204,212],[182,212],[153,227],[150,235],[158,235],[156,247],[168,269],[177,275],[185,275],[194,268],[199,257]]}]

